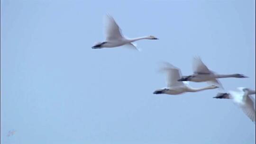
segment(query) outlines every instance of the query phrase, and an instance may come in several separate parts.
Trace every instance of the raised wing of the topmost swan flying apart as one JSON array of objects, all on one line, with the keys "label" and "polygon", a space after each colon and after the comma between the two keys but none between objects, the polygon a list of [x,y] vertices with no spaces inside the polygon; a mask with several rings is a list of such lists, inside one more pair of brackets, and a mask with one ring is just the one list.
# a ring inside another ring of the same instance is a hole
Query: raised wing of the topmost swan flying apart
[{"label": "raised wing of the topmost swan flying apart", "polygon": [[117,40],[123,37],[118,24],[109,14],[105,18],[105,35],[106,41]]}]

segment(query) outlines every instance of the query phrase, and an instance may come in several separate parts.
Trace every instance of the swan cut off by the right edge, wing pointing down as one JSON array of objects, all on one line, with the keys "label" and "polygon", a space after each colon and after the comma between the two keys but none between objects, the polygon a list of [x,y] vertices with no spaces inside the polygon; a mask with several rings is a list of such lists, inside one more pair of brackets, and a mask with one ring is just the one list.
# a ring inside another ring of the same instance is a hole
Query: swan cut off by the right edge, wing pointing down
[{"label": "swan cut off by the right edge, wing pointing down", "polygon": [[216,99],[232,99],[253,122],[255,122],[255,109],[253,99],[249,96],[255,94],[255,90],[238,88],[238,91],[218,93]]}]

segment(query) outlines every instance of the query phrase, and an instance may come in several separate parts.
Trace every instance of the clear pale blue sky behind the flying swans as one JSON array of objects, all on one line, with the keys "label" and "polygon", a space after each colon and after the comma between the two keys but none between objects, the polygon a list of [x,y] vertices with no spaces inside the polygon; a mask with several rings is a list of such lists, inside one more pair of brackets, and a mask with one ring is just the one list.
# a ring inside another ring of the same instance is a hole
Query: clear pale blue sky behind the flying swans
[{"label": "clear pale blue sky behind the flying swans", "polygon": [[[106,13],[125,36],[159,40],[91,49]],[[221,79],[225,90],[255,89],[255,25],[255,0],[1,0],[1,144],[255,144],[218,90],[153,94],[159,62],[189,75],[196,55],[250,77]]]}]

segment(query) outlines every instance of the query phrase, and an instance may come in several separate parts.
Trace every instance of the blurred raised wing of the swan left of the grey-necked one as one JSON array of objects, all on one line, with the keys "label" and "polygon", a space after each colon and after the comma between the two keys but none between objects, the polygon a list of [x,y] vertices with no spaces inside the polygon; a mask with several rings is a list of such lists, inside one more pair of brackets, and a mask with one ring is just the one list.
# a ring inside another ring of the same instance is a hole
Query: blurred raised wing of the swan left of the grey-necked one
[{"label": "blurred raised wing of the swan left of the grey-necked one", "polygon": [[183,81],[178,81],[182,76],[180,69],[167,62],[163,64],[165,66],[161,68],[161,71],[166,72],[167,87],[183,86]]}]

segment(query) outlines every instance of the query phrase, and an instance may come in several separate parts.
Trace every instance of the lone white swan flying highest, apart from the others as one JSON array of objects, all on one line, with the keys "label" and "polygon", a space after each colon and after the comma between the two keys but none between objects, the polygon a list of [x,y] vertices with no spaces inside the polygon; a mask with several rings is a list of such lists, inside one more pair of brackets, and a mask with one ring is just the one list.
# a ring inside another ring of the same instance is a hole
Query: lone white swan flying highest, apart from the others
[{"label": "lone white swan flying highest, apart from the others", "polygon": [[103,48],[103,47],[117,47],[121,45],[126,45],[130,48],[136,48],[136,45],[132,44],[137,40],[141,39],[158,39],[155,36],[143,36],[137,38],[126,38],[122,35],[121,29],[119,28],[118,24],[110,15],[106,16],[105,19],[105,35],[106,40],[104,42],[96,43],[96,45],[92,46],[91,48]]}]

